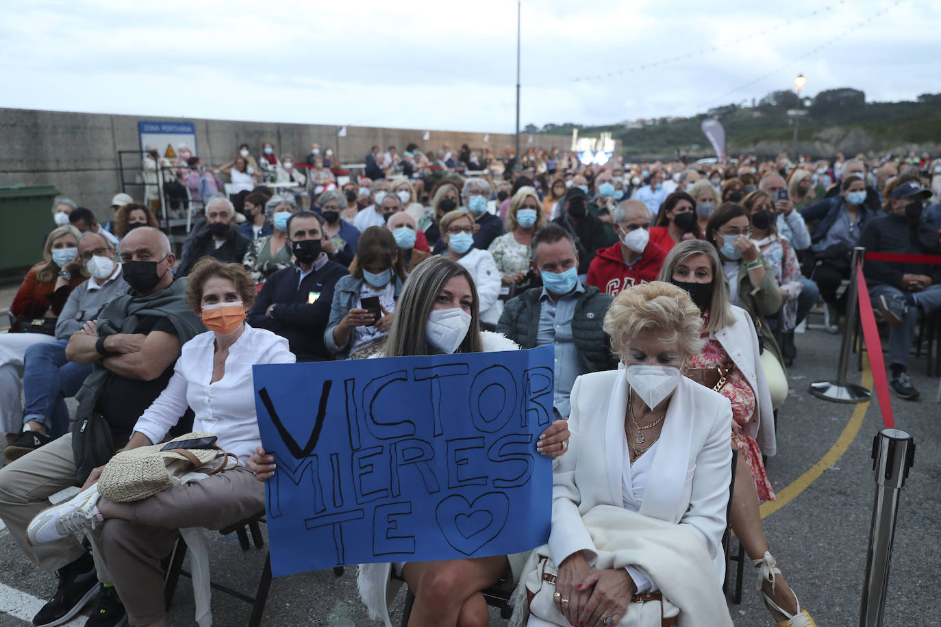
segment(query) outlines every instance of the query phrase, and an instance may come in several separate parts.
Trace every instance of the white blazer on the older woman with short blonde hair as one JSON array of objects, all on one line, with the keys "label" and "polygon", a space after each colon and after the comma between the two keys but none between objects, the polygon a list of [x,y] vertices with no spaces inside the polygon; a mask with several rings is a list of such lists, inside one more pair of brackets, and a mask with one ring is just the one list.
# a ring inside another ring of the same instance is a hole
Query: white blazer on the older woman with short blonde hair
[{"label": "white blazer on the older woman with short blonde hair", "polygon": [[[552,489],[552,560],[576,551],[589,563],[598,556],[582,516],[598,505],[623,507],[626,370],[584,374],[575,380],[568,452],[560,458]],[[722,535],[732,476],[732,407],[726,397],[683,377],[670,400],[640,513],[689,525],[702,539],[722,585],[726,559]],[[654,581],[654,586],[657,582]]]}]

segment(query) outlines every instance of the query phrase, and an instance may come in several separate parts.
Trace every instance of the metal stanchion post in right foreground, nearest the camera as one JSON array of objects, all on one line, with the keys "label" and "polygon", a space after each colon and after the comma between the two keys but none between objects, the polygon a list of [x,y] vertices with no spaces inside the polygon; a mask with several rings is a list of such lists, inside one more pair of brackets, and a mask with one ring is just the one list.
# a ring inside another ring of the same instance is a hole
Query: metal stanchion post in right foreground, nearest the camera
[{"label": "metal stanchion post in right foreground, nearest the camera", "polygon": [[884,429],[873,438],[872,459],[875,460],[872,466],[875,471],[876,496],[872,504],[866,579],[859,608],[860,627],[882,625],[895,521],[899,514],[899,495],[901,486],[908,478],[908,469],[915,462],[915,442],[905,431]]}]

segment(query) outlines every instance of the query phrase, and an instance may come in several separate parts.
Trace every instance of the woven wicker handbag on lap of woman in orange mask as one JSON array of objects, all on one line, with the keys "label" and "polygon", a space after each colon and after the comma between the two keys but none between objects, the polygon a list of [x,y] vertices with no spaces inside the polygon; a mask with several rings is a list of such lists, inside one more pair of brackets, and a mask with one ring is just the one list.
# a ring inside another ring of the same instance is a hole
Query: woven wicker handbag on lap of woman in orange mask
[{"label": "woven wicker handbag on lap of woman in orange mask", "polygon": [[184,483],[182,477],[187,473],[214,475],[238,465],[234,454],[215,445],[212,448],[161,450],[173,442],[211,436],[212,433],[195,431],[173,438],[166,444],[121,451],[104,465],[98,479],[99,494],[120,503],[139,501]]}]

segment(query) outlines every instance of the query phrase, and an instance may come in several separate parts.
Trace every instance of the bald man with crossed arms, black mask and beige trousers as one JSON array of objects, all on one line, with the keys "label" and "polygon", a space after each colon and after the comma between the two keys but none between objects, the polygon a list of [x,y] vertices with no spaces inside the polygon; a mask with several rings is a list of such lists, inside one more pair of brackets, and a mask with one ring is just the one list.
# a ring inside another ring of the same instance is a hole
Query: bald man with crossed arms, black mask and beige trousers
[{"label": "bald man with crossed arms, black mask and beige trousers", "polygon": [[[134,229],[124,238],[120,259],[132,292],[112,299],[96,320],[72,334],[66,347],[70,361],[96,365],[76,396],[75,424],[98,424],[111,440],[111,454],[127,444],[137,418],[167,387],[180,347],[204,328],[186,306],[184,281],[174,281],[170,273],[176,259],[166,235],[151,227]],[[49,496],[73,485],[76,476],[84,481],[111,456],[74,448],[72,433],[66,433],[0,468],[0,519],[20,550],[58,578],[56,592],[33,624],[56,624],[73,616],[96,595],[99,581],[105,586],[97,592],[93,615],[118,624],[124,609],[114,591],[117,577],[104,567],[100,528],[87,534],[91,555],[72,534],[41,544],[27,541],[26,527],[49,507]]]}]

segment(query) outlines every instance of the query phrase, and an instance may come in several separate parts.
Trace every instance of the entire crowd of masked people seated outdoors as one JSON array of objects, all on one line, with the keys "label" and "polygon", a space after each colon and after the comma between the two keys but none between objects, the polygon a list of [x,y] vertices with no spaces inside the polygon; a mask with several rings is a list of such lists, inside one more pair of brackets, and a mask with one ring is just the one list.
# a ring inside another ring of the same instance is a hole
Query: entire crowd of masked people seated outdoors
[{"label": "entire crowd of masked people seated outdoors", "polygon": [[[256,159],[242,145],[218,171],[180,151],[186,168],[171,176],[203,214],[179,259],[151,198],[115,196],[104,227],[56,199],[0,336],[0,519],[59,582],[34,624],[60,624],[92,600],[92,627],[166,624],[161,559],[177,529],[263,509],[274,459],[252,364],[545,345],[558,419],[536,447],[559,458],[549,543],[362,565],[371,614],[390,624],[382,592],[395,574],[415,593],[409,624],[486,624],[480,591],[512,571],[531,625],[646,624],[636,601],[658,601],[658,617],[709,612],[730,624],[720,543],[731,526],[774,621],[814,624],[758,514],[775,497],[765,460],[793,334],[819,302],[837,329],[854,246],[939,254],[941,160],[598,166],[558,150],[498,160],[409,145],[374,147],[357,178],[331,149],[313,144],[300,172],[275,148]],[[166,172],[154,152],[145,172]],[[220,175],[231,196],[218,193]],[[277,181],[301,184],[264,184]],[[914,400],[906,364],[917,325],[941,308],[941,265],[872,261],[864,273],[890,327],[891,389]],[[238,463],[136,502],[98,493],[117,451],[189,431],[214,433]],[[49,508],[76,478],[82,492]],[[533,583],[550,569],[551,586]]]}]

